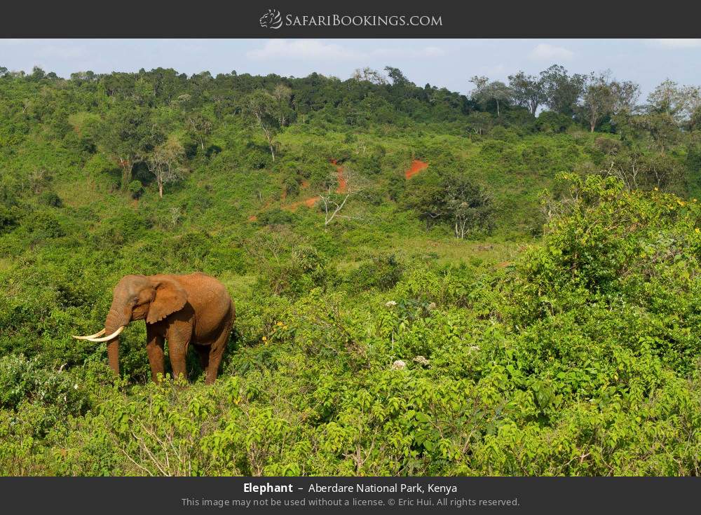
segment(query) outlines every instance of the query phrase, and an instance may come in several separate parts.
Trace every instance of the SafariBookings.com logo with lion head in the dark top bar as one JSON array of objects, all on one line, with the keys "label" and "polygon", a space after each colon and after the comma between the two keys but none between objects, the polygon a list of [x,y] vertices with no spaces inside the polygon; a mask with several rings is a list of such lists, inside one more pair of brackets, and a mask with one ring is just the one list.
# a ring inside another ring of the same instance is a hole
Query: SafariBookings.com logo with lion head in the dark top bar
[{"label": "SafariBookings.com logo with lion head in the dark top bar", "polygon": [[280,27],[442,27],[440,15],[293,15],[280,14],[277,9],[268,12],[259,20],[264,29]]}]

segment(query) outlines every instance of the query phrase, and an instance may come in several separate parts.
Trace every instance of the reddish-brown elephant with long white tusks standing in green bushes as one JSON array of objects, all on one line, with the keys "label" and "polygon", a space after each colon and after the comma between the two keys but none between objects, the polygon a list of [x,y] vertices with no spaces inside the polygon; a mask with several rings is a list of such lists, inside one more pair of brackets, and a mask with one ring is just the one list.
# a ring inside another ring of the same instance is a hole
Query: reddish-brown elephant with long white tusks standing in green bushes
[{"label": "reddish-brown elephant with long white tusks standing in green bushes", "polygon": [[224,284],[204,273],[125,275],[114,288],[104,329],[74,338],[107,342],[109,367],[119,375],[119,334],[132,320],[146,321],[146,350],[154,382],[163,374],[167,340],[173,376],[187,377],[186,355],[192,344],[205,369],[205,383],[211,385],[217,379],[236,308]]}]

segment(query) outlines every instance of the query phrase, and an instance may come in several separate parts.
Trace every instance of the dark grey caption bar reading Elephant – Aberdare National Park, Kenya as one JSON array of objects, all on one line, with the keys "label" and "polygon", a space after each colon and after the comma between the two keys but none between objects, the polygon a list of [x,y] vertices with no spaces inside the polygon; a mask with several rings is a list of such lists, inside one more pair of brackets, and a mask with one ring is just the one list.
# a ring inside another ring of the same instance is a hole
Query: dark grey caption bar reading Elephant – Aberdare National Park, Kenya
[{"label": "dark grey caption bar reading Elephant \u2013 Aberdare National Park, Kenya", "polygon": [[[332,490],[334,485],[343,491],[318,491]],[[359,492],[360,485],[379,490],[394,486],[397,491]],[[416,485],[421,488],[417,490]],[[700,486],[698,478],[649,477],[6,478],[0,479],[0,495],[3,511],[8,514],[53,512],[57,508],[76,515],[283,511],[674,514],[698,511]],[[271,491],[280,487],[291,491]],[[326,504],[310,504],[322,497]],[[205,506],[205,500],[212,505]],[[242,500],[250,504],[242,506]],[[470,500],[472,504],[468,504]]]}]

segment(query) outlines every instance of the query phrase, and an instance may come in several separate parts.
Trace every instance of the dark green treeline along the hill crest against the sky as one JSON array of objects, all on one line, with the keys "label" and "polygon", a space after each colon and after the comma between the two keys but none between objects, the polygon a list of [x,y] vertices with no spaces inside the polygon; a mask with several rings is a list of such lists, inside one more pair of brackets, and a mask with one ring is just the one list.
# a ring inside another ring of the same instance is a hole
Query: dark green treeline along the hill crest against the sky
[{"label": "dark green treeline along the hill crest against the sky", "polygon": [[[474,84],[470,95],[430,84],[420,87],[397,68],[386,67],[384,72],[358,69],[351,78],[341,81],[317,73],[304,78],[239,75],[236,71],[217,76],[203,71],[187,76],[174,69],[157,68],[137,73],[79,71],[64,79],[39,67],[34,67],[31,74],[0,67],[0,78],[57,88],[86,110],[95,109],[97,97],[103,97],[134,107],[177,105],[184,112],[211,105],[217,117],[242,114],[250,95],[266,90],[283,104],[279,106],[283,116],[278,120],[282,125],[305,121],[309,114],[324,111],[348,125],[457,121],[467,130],[483,132],[494,123],[484,113],[500,118],[501,124],[527,125],[541,109],[592,131],[622,130],[633,119],[637,128],[655,138],[661,132],[694,130],[701,124],[700,87],[670,80],[660,83],[645,102],[639,102],[639,86],[613,78],[608,70],[569,74],[554,64],[537,75],[518,71],[508,76],[508,83],[474,76],[470,79]],[[289,88],[289,92],[280,91],[280,87]]]}]

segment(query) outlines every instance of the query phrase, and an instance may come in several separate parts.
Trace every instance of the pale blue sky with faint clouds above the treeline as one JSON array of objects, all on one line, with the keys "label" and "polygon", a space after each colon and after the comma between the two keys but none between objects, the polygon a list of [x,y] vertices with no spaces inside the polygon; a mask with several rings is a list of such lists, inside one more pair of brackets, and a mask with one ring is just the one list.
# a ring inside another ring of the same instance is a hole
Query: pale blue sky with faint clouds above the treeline
[{"label": "pale blue sky with faint clouds above the treeline", "polygon": [[701,39],[0,39],[0,66],[39,65],[64,77],[160,66],[345,79],[359,67],[390,65],[418,85],[468,92],[473,75],[505,81],[555,63],[577,73],[611,69],[646,95],[665,78],[701,84]]}]

